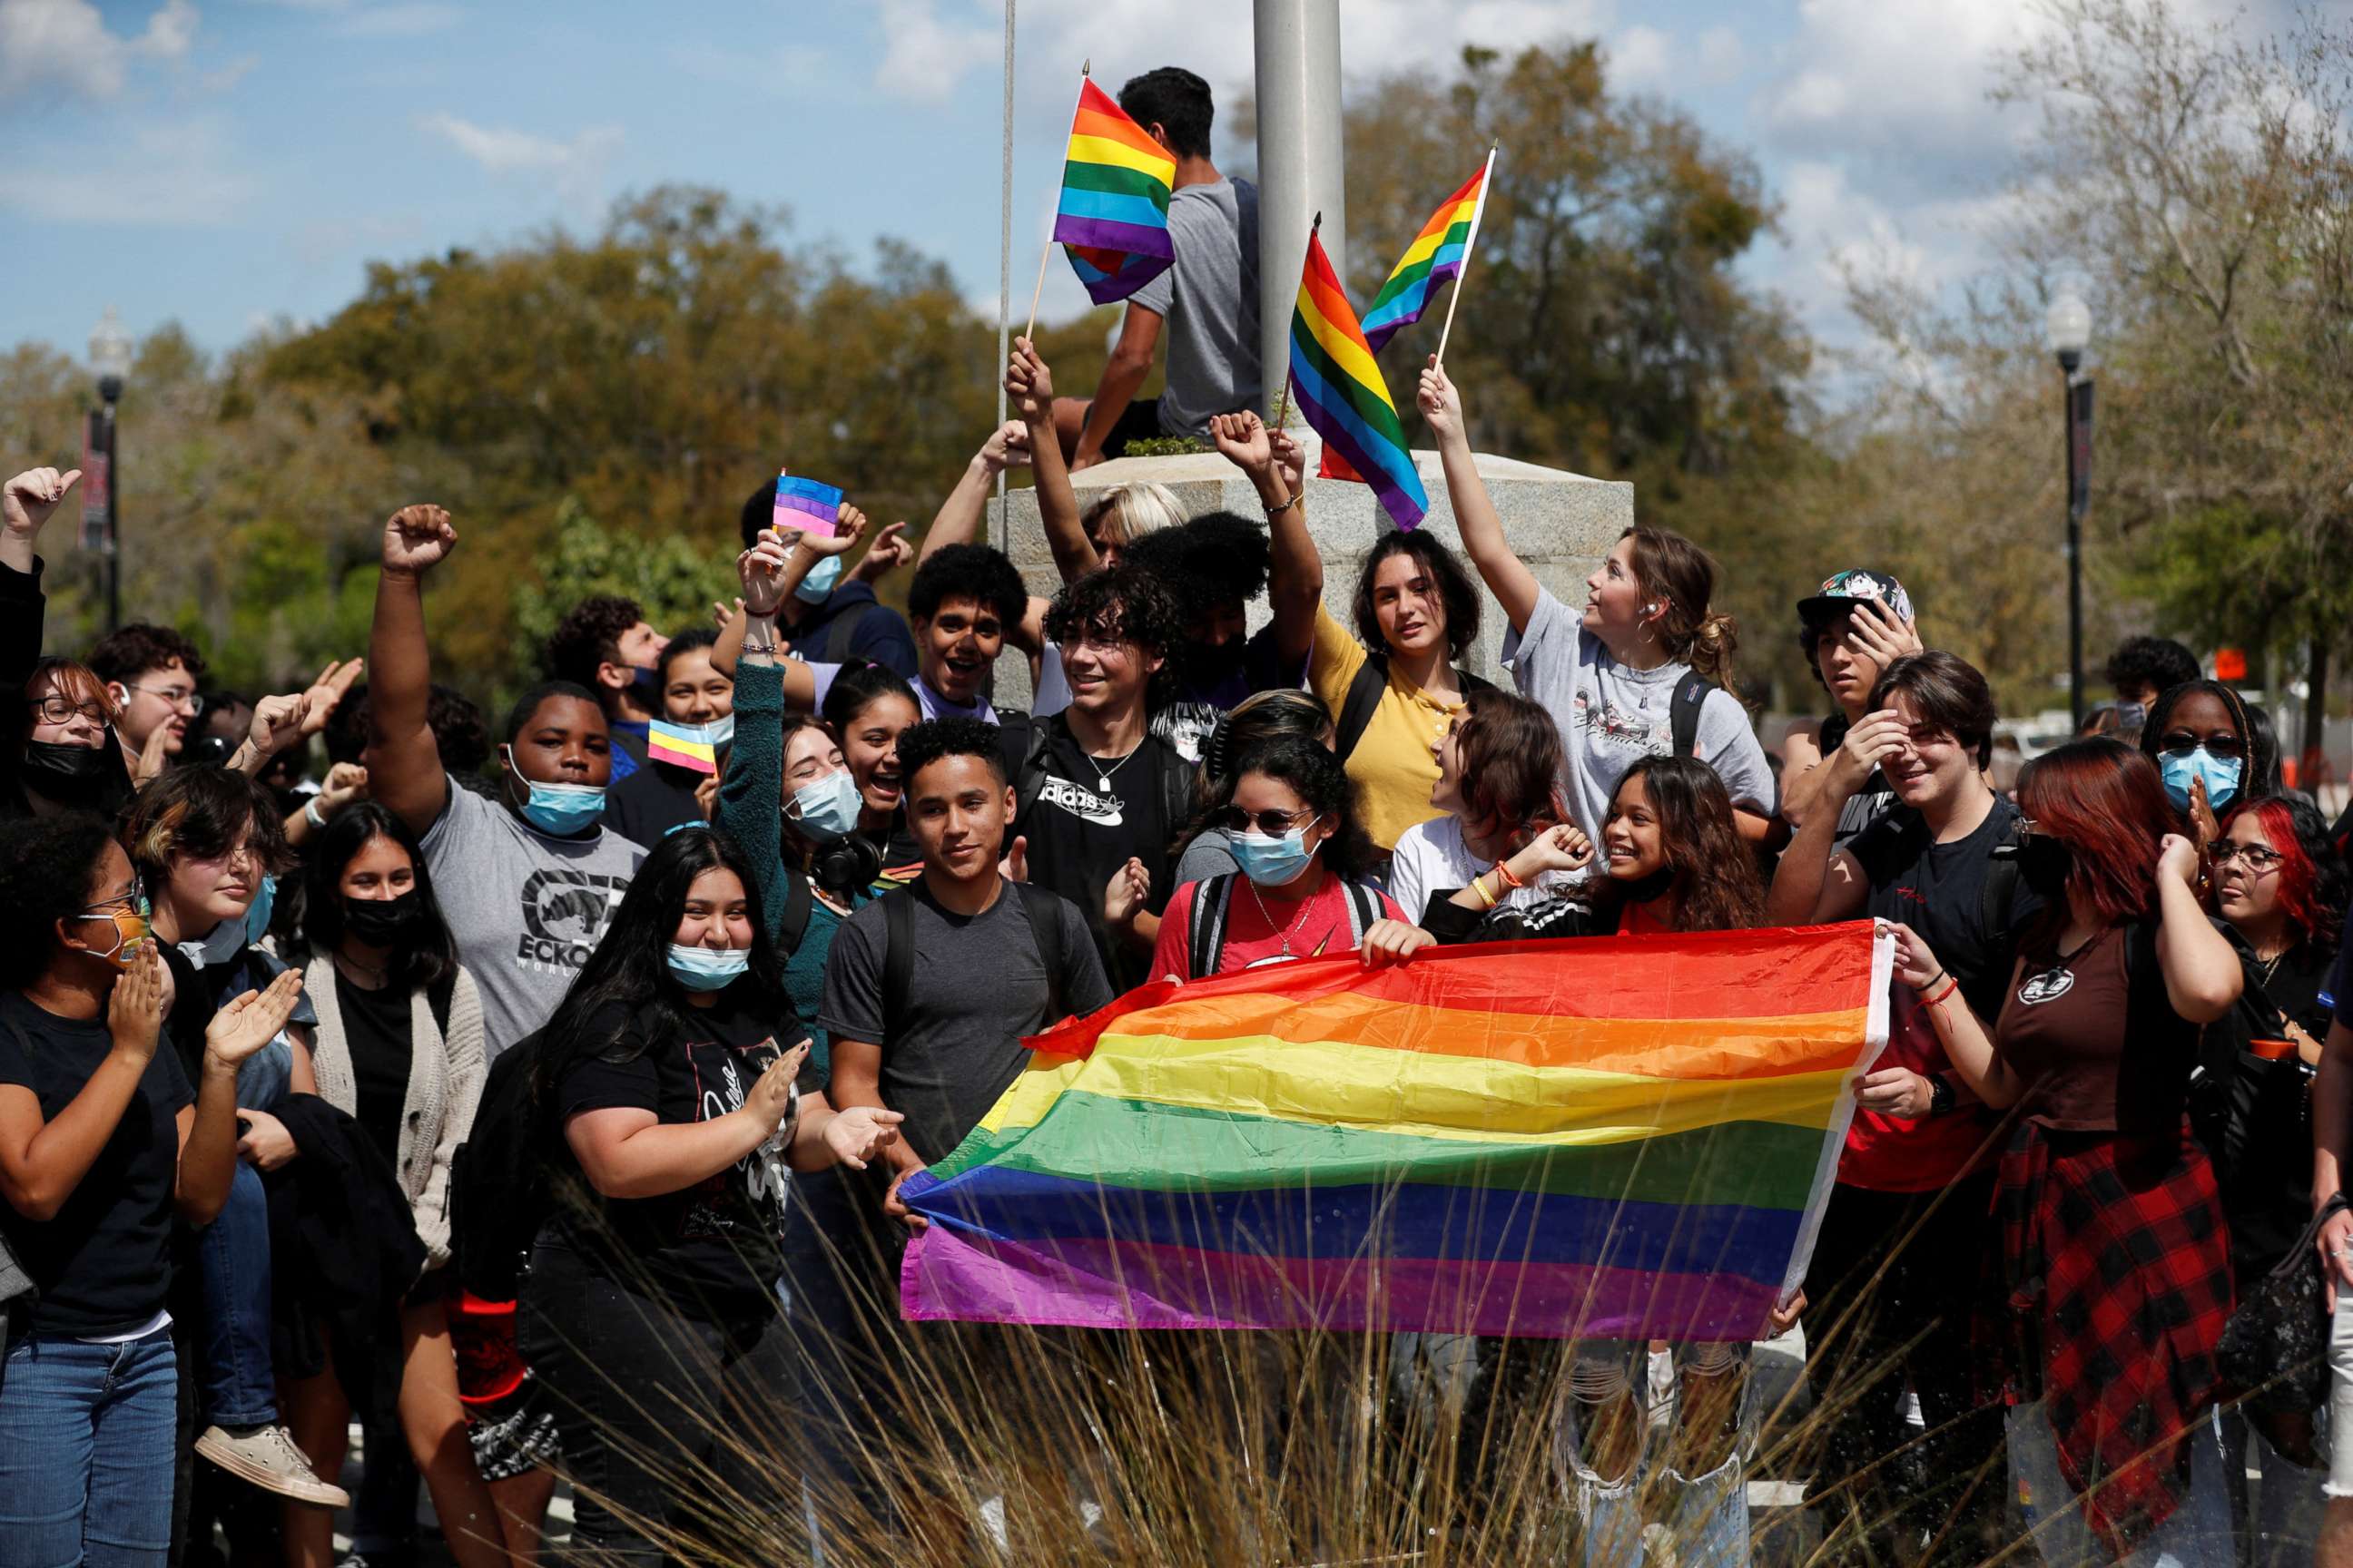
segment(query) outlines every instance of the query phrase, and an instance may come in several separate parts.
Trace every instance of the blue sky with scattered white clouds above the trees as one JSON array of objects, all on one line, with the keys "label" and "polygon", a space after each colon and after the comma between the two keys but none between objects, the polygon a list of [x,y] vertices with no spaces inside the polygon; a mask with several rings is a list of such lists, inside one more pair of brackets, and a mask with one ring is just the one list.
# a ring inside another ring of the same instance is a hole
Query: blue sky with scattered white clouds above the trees
[{"label": "blue sky with scattered white clouds above the trees", "polygon": [[[1247,0],[1019,21],[1016,315],[1078,61],[1188,63],[1226,101],[1252,56]],[[1840,259],[1929,284],[1986,266],[2031,127],[1986,99],[2028,0],[1341,0],[1341,24],[1351,75],[1602,38],[1619,85],[1758,155],[1786,233],[1748,273],[1833,343]],[[784,205],[854,256],[899,235],[993,301],[1000,35],[1000,0],[0,0],[0,343],[78,355],[118,306],[226,348],[329,315],[369,259],[586,230],[664,181]],[[1047,313],[1082,301],[1052,268]]]}]

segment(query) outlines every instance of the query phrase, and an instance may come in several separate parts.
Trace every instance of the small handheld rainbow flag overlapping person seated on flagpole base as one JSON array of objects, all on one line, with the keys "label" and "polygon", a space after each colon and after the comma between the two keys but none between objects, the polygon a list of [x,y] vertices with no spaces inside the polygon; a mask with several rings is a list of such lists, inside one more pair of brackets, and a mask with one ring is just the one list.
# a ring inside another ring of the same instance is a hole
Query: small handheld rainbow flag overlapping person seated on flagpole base
[{"label": "small handheld rainbow flag overlapping person seated on flagpole base", "polygon": [[1176,160],[1094,78],[1080,82],[1054,240],[1087,284],[1087,299],[1099,306],[1127,299],[1176,261],[1169,244],[1174,183]]}]

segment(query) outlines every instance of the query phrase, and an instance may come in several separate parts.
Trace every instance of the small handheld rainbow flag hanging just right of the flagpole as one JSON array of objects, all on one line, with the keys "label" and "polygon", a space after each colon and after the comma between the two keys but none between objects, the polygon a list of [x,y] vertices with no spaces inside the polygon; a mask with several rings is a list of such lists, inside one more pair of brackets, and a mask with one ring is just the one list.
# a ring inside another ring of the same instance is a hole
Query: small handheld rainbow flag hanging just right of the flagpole
[{"label": "small handheld rainbow flag hanging just right of the flagpole", "polygon": [[1320,233],[1308,233],[1308,263],[1292,308],[1292,390],[1299,393],[1299,414],[1325,437],[1315,473],[1369,484],[1400,529],[1421,522],[1431,496],[1421,489],[1398,404],[1388,400],[1388,383],[1372,362],[1372,346],[1355,324]]}]

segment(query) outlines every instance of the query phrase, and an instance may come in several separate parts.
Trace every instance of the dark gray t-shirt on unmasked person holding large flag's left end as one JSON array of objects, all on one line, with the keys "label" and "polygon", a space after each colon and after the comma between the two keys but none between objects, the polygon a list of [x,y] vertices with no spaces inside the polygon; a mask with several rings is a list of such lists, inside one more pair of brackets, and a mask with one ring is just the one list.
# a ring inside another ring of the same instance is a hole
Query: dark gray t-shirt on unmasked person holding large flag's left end
[{"label": "dark gray t-shirt on unmasked person holding large flag's left end", "polygon": [[[882,1018],[882,973],[889,952],[889,900],[861,905],[833,933],[826,954],[826,1006],[816,1027],[833,1041],[882,1046],[882,1103],[906,1112],[908,1147],[925,1161],[946,1159],[998,1095],[1021,1074],[1024,1034],[1049,1023],[1052,987],[1045,957],[1031,936],[1028,907],[1009,886],[979,914],[948,914],[922,882],[915,900],[915,966],[896,1006],[899,1034]],[[1111,1001],[1094,933],[1078,905],[1061,898],[1061,1004],[1092,1013]]]}]

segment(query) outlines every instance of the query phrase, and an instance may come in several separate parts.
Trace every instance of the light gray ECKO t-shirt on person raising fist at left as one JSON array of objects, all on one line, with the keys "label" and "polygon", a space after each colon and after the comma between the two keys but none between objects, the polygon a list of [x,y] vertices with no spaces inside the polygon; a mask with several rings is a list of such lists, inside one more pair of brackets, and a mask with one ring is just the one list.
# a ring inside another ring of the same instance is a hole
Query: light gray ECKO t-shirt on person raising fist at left
[{"label": "light gray ECKO t-shirt on person raising fist at left", "polygon": [[548,837],[454,778],[424,849],[456,957],[482,990],[482,1048],[496,1060],[565,999],[645,849],[609,827]]}]

